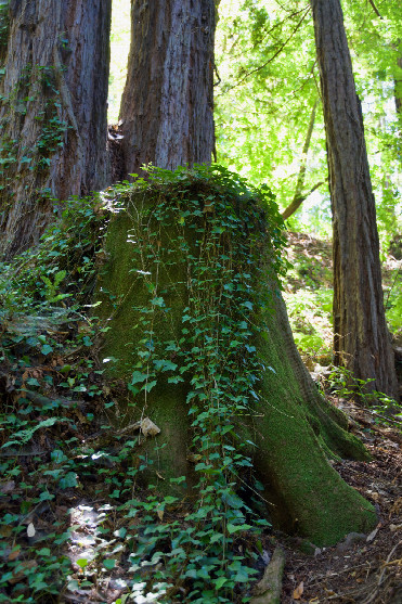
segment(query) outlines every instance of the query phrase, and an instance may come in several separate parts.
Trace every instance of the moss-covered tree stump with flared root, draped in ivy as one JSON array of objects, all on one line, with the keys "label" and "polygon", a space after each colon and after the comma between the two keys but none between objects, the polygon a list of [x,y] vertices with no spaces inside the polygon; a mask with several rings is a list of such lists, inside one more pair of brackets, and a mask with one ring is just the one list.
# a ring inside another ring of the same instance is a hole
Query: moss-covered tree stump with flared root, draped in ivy
[{"label": "moss-covered tree stump with flared root, draped in ivy", "polygon": [[[221,185],[183,177],[176,188],[128,192],[125,204],[126,210],[114,214],[109,224],[109,261],[100,282],[104,292],[101,317],[108,325],[101,354],[112,359],[105,365],[109,375],[127,381],[133,390],[128,408],[127,396],[121,396],[121,416],[129,422],[148,416],[161,430],[155,440],[157,450],[150,444],[146,453],[153,462],[151,481],[158,481],[165,492],[171,488],[169,478],[185,475],[187,483],[196,483],[189,453],[196,453],[206,463],[209,453],[192,448],[192,434],[198,425],[194,415],[197,403],[189,399],[189,393],[196,388],[202,415],[204,411],[208,414],[209,406],[215,413],[228,413],[225,395],[234,388],[233,396],[242,399],[244,393],[233,384],[237,377],[239,384],[247,383],[242,372],[255,350],[264,370],[259,383],[250,386],[249,407],[245,410],[239,403],[241,411],[231,409],[229,416],[219,421],[218,433],[234,423],[242,435],[231,441],[235,447],[256,444],[250,457],[264,486],[272,519],[316,544],[335,543],[348,532],[368,530],[376,522],[372,506],[327,461],[334,455],[364,460],[367,453],[347,433],[345,415],[319,394],[301,362],[272,274],[265,235],[257,260],[252,252],[252,242],[261,233],[247,221],[252,202],[244,202]],[[219,204],[228,214],[218,215],[213,208]],[[234,246],[237,252],[233,252],[230,235],[233,220],[238,220],[233,237],[243,237],[239,247]],[[267,232],[267,224],[262,232]],[[246,288],[238,282],[243,273],[249,280]],[[238,345],[245,333],[242,330],[247,327],[244,309],[250,303],[244,303],[244,296],[256,290],[268,304],[250,314],[248,327],[259,325],[261,331],[257,330],[254,346],[238,349],[233,357],[231,350],[236,349],[232,346]],[[228,308],[234,317],[239,308],[237,323],[225,320]],[[207,330],[205,320],[209,321]],[[225,336],[231,325],[241,327],[233,327],[234,336]],[[195,346],[190,340],[197,332],[202,335]],[[193,361],[183,361],[183,350],[184,356],[194,350]],[[221,363],[218,371],[213,369],[217,363]],[[163,369],[155,371],[155,367]],[[170,373],[165,371],[170,368]],[[199,386],[203,375],[211,384],[208,391]],[[250,402],[255,398],[259,402]]]}]

